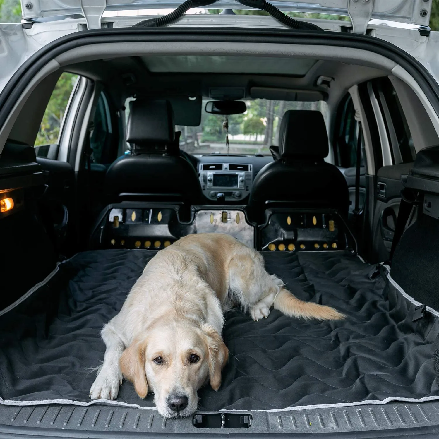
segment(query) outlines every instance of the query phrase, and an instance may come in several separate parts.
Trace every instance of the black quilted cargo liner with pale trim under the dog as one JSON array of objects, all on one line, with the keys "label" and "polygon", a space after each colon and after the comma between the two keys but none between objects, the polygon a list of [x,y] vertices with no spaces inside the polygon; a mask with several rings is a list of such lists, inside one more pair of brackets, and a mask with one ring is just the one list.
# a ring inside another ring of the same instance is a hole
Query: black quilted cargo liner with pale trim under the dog
[{"label": "black quilted cargo liner with pale trim under the dog", "polygon": [[[0,396],[7,404],[90,403],[91,368],[104,357],[102,326],[121,308],[147,250],[103,250],[61,263],[50,279],[0,317]],[[272,311],[253,322],[227,314],[230,361],[200,410],[279,410],[322,404],[439,398],[433,361],[439,324],[413,322],[414,304],[374,266],[344,252],[264,253],[266,268],[304,300],[346,314],[305,322]],[[124,382],[116,401],[153,408]]]}]

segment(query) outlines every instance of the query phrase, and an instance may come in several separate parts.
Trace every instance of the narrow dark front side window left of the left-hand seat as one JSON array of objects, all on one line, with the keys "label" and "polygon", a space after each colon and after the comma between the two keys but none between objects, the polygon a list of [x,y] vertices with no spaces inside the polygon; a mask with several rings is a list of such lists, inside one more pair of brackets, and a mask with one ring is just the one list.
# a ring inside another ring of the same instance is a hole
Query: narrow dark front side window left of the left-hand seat
[{"label": "narrow dark front side window left of the left-hand seat", "polygon": [[90,132],[91,162],[101,165],[110,164],[112,157],[113,141],[112,119],[108,99],[101,92],[97,101],[96,111],[93,118],[93,126]]}]

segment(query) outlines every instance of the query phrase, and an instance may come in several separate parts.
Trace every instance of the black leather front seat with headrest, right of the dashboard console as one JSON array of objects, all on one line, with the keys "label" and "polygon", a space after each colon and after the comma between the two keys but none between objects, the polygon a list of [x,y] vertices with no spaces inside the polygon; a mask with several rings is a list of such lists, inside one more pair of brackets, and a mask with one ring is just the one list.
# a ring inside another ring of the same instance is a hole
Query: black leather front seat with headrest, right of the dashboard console
[{"label": "black leather front seat with headrest, right of the dashboard console", "polygon": [[264,166],[253,181],[248,212],[263,223],[270,205],[331,207],[347,216],[349,191],[336,166],[324,162],[329,153],[323,115],[319,111],[290,110],[282,118],[280,160]]}]

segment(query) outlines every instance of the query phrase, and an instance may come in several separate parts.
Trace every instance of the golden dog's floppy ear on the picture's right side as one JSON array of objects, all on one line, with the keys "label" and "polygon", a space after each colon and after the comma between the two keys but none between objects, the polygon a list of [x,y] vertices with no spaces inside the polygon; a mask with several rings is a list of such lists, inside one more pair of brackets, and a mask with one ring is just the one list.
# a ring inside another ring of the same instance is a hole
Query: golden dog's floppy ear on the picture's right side
[{"label": "golden dog's floppy ear on the picture's right side", "polygon": [[208,324],[202,326],[205,334],[208,363],[209,363],[209,381],[213,390],[218,390],[221,385],[221,370],[229,359],[229,350],[224,344],[223,339],[218,331]]}]

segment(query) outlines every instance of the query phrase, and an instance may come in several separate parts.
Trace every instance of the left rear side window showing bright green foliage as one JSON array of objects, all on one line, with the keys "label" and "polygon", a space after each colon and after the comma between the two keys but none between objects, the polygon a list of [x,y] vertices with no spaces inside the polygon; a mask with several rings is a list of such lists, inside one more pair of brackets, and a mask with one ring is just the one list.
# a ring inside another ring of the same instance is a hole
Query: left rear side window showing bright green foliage
[{"label": "left rear side window showing bright green foliage", "polygon": [[54,159],[58,157],[58,140],[62,122],[77,79],[78,75],[67,72],[59,77],[36,136],[34,146],[38,157]]}]

